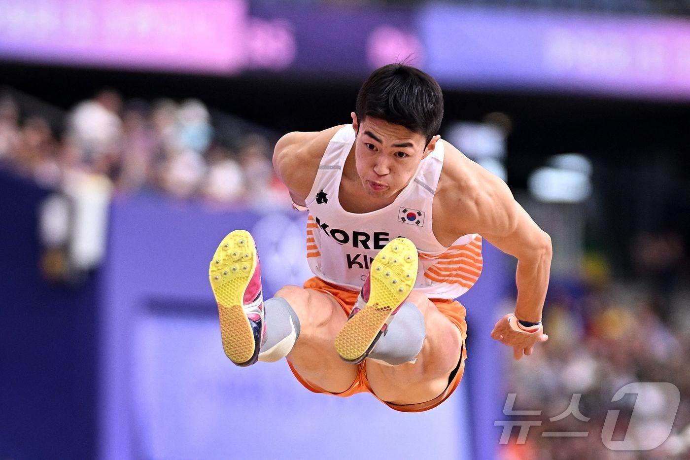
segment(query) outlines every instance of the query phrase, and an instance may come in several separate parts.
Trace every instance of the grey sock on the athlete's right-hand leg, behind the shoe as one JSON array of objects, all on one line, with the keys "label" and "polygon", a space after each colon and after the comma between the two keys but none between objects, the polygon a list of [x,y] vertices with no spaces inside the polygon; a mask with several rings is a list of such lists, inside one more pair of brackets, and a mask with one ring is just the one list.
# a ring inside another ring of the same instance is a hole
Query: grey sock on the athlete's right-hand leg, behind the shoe
[{"label": "grey sock on the athlete's right-hand leg, behind the shoe", "polygon": [[368,357],[391,365],[407,363],[420,354],[424,338],[424,315],[417,305],[405,302],[388,325],[386,335],[379,338]]}]

